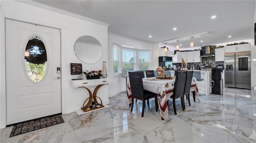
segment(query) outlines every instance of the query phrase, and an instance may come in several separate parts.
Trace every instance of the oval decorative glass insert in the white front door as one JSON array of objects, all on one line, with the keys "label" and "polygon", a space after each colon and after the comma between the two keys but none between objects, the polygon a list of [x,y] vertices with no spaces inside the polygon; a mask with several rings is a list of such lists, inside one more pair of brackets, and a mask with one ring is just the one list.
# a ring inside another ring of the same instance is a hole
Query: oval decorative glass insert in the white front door
[{"label": "oval decorative glass insert in the white front door", "polygon": [[26,72],[33,82],[43,79],[47,67],[47,54],[42,39],[38,36],[30,38],[26,45],[25,54]]}]

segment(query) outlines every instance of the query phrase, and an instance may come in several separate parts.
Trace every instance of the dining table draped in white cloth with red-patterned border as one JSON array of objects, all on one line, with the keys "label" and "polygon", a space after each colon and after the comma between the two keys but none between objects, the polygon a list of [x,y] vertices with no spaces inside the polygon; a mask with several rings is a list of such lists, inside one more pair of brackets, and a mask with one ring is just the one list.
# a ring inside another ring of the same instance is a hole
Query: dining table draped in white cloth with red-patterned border
[{"label": "dining table draped in white cloth with red-patterned border", "polygon": [[[150,92],[154,92],[158,94],[157,97],[158,97],[160,115],[162,119],[167,120],[169,117],[167,100],[173,94],[175,76],[172,76],[172,79],[164,79],[164,78],[157,78],[157,77],[142,78],[142,82],[143,82],[144,90],[148,90]],[[192,92],[193,97],[195,97],[200,102],[199,95],[198,95],[198,86],[197,86],[195,77],[192,78],[190,92]],[[127,82],[127,98],[128,98],[128,104],[131,104],[132,91],[130,88],[129,81]],[[194,98],[194,101],[195,101],[195,98]]]}]

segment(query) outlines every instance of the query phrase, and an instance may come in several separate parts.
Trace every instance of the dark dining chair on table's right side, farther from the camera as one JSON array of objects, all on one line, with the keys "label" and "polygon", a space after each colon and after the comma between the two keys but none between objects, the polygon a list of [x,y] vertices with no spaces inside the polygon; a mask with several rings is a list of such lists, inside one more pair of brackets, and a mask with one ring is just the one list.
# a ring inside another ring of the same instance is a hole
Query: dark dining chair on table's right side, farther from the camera
[{"label": "dark dining chair on table's right side, farther from the camera", "polygon": [[[186,82],[185,82],[185,88],[184,88],[184,94],[183,94],[183,96],[186,95],[186,98],[188,99],[188,104],[189,104],[189,106],[191,106],[191,105],[190,105],[189,94],[190,94],[191,82],[192,82],[192,78],[193,78],[193,72],[194,72],[194,71],[187,71]],[[183,103],[184,103],[184,109],[186,109],[186,107],[185,107],[185,102],[184,102],[184,98],[183,98]]]}]

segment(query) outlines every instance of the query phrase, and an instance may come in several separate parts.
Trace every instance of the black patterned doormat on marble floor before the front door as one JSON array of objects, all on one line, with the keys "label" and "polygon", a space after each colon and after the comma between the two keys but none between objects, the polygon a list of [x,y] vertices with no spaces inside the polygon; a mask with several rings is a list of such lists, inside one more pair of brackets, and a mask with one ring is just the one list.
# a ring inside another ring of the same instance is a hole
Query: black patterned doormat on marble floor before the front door
[{"label": "black patterned doormat on marble floor before the front door", "polygon": [[64,123],[64,120],[61,115],[43,117],[25,123],[18,123],[13,126],[10,137],[20,135],[22,133],[28,133],[30,131],[35,131],[37,129],[50,127],[52,125],[57,125],[59,123]]}]

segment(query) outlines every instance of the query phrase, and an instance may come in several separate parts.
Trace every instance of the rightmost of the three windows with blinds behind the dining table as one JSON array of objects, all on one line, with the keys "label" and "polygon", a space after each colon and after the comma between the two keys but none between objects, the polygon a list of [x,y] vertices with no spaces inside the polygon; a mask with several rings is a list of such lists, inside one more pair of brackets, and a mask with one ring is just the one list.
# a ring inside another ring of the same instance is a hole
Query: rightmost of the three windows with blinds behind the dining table
[{"label": "rightmost of the three windows with blinds behind the dining table", "polygon": [[145,71],[150,69],[150,51],[139,51],[139,70]]}]

